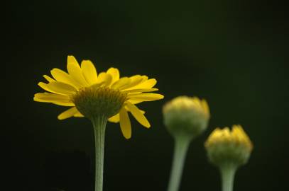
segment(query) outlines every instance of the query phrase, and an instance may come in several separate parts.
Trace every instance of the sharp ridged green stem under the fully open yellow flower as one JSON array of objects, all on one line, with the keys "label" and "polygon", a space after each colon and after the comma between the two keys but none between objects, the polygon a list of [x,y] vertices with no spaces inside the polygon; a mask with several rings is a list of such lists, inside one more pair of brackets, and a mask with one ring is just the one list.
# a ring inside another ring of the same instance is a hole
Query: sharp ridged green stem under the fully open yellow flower
[{"label": "sharp ridged green stem under the fully open yellow flower", "polygon": [[107,117],[98,116],[92,119],[95,143],[95,190],[102,191],[104,174],[104,137]]}]

